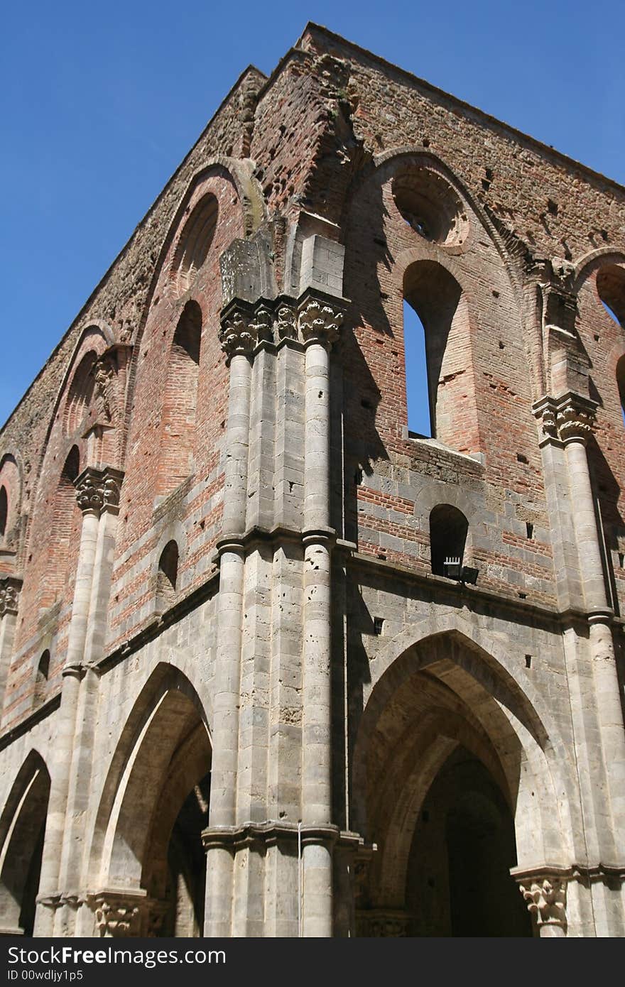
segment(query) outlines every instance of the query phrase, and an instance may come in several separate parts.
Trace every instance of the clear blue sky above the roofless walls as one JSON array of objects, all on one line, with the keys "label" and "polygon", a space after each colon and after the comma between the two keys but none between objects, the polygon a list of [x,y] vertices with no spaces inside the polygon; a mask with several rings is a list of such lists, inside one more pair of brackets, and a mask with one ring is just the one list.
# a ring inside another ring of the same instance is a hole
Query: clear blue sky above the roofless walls
[{"label": "clear blue sky above the roofless walls", "polygon": [[7,4],[0,422],[242,70],[308,20],[625,184],[616,0]]}]

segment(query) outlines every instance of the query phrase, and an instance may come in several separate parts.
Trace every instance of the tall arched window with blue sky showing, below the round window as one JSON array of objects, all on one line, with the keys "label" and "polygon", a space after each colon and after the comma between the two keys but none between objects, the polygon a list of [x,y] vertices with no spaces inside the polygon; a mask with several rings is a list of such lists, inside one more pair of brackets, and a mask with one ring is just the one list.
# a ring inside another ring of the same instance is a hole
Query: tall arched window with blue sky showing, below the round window
[{"label": "tall arched window with blue sky showing, below the round window", "polygon": [[[476,429],[471,425],[475,409],[467,401],[467,392],[473,387],[469,316],[460,285],[444,267],[423,261],[406,271],[404,299],[405,312],[412,309],[417,317],[409,311],[408,331],[406,327],[404,330],[406,377],[411,389],[409,427],[420,421],[422,427],[412,430],[429,433],[452,448],[473,451],[477,448]],[[419,342],[419,323],[425,348]],[[430,426],[424,428],[428,412]]]}]

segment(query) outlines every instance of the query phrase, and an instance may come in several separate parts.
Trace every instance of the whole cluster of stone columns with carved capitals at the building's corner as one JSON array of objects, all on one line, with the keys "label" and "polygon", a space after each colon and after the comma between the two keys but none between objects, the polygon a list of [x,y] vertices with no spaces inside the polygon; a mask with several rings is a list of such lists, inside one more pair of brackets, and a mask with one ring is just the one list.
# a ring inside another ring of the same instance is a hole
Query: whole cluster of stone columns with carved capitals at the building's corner
[{"label": "whole cluster of stone columns with carved capitals at the building's corner", "polygon": [[[332,822],[331,799],[329,374],[343,316],[336,301],[317,293],[282,299],[273,310],[274,317],[267,306],[249,311],[234,303],[221,333],[230,383],[203,833],[208,936],[332,936],[333,848],[349,840]],[[280,363],[288,361],[283,373]],[[278,475],[280,429],[289,426],[285,394],[297,391],[295,381],[300,405],[303,398],[301,476],[294,465],[289,484],[303,481],[302,495],[290,523],[281,509],[269,509],[263,527],[262,509],[254,506],[264,499],[256,459],[269,457],[265,476]],[[263,419],[264,396],[270,392],[273,403],[275,389],[282,417],[276,421],[268,410]],[[259,428],[264,434],[252,450]],[[272,572],[273,606],[259,591]],[[287,755],[280,745],[285,730]],[[275,769],[282,764],[283,771]]]}]

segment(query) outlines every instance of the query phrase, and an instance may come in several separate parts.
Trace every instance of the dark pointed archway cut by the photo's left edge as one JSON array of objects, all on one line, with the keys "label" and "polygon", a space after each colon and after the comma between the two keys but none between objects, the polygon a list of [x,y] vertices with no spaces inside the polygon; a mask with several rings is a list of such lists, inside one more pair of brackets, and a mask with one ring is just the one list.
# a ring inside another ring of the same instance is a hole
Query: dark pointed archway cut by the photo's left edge
[{"label": "dark pointed archway cut by the photo's left edge", "polygon": [[50,778],[32,753],[13,786],[0,820],[0,934],[32,936],[43,855]]}]

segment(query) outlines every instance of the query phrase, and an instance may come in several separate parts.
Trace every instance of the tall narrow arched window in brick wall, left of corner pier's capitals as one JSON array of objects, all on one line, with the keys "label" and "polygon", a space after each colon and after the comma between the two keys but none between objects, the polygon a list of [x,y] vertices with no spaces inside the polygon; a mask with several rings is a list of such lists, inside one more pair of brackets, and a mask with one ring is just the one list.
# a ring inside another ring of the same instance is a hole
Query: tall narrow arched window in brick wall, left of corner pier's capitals
[{"label": "tall narrow arched window in brick wall, left of corner pier's capitals", "polygon": [[170,351],[163,407],[159,493],[171,493],[192,470],[199,376],[201,310],[195,301],[183,310]]}]

